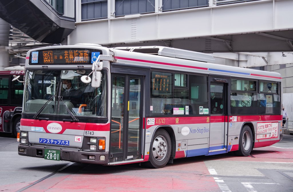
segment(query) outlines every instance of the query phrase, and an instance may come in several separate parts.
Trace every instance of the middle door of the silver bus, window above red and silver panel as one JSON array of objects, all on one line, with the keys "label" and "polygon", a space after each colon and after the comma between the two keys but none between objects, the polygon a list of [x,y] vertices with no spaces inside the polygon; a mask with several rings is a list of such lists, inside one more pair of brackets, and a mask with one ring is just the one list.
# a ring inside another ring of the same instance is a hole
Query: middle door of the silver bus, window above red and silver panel
[{"label": "middle door of the silver bus, window above red and silver panel", "polygon": [[[209,155],[223,153],[226,150],[228,123],[228,83],[210,82],[210,136]],[[224,81],[226,79],[221,79]],[[227,80],[226,80],[227,81]]]}]

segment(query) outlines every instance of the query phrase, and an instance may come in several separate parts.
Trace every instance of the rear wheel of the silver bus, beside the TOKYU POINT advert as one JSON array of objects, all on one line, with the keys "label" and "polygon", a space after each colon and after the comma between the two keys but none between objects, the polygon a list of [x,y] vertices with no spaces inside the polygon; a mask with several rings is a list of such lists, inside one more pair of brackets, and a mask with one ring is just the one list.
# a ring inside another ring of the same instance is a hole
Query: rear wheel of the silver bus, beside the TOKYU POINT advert
[{"label": "rear wheel of the silver bus, beside the TOKYU POINT advert", "polygon": [[252,150],[253,136],[251,129],[245,125],[240,133],[239,138],[239,151],[235,151],[238,156],[248,156]]}]

